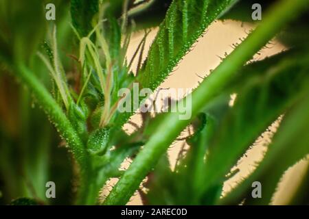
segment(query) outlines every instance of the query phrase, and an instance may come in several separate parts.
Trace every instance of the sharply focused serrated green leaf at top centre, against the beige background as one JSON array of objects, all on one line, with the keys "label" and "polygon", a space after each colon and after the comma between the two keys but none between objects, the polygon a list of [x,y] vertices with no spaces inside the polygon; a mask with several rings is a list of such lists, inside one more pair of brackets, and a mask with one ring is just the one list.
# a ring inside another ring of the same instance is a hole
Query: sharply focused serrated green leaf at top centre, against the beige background
[{"label": "sharply focused serrated green leaf at top centre, against the beige background", "polygon": [[205,29],[235,2],[173,1],[139,73],[141,85],[155,90]]}]

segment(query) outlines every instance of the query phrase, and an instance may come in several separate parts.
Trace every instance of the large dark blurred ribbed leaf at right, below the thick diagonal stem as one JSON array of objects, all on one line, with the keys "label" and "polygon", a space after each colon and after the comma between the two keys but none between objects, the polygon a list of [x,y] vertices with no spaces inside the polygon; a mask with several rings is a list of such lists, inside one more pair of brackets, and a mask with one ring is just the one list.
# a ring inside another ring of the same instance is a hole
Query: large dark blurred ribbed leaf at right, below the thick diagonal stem
[{"label": "large dark blurred ribbed leaf at right, below the thick diagonal stem", "polygon": [[[255,63],[255,66],[264,66],[269,61]],[[266,64],[268,67],[260,74],[254,73],[251,66],[244,67],[242,73],[252,77],[236,89],[235,105],[222,121],[209,147],[204,192],[225,181],[225,175],[249,146],[295,103],[304,88],[303,81],[308,79],[308,68],[304,68],[306,62],[306,55],[303,59],[287,57],[271,65]]]}]

